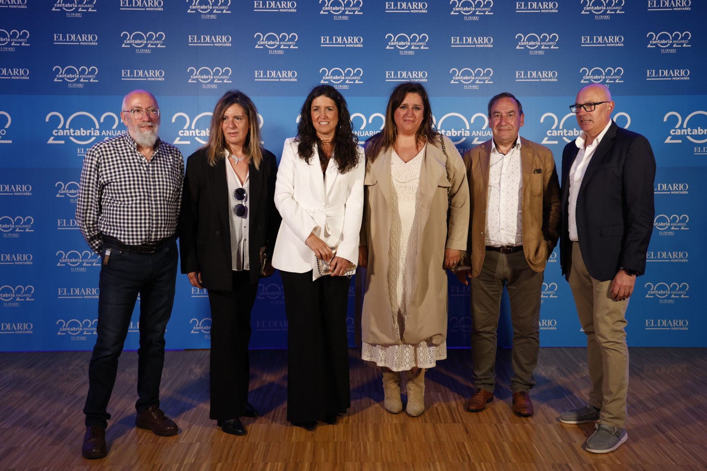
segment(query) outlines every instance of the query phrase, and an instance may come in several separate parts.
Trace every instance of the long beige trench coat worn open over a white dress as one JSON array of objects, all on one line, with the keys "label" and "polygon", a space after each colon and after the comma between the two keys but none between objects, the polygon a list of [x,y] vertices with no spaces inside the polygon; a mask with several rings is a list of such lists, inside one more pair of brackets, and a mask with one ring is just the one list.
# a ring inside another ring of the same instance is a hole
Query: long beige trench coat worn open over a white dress
[{"label": "long beige trench coat worn open over a white dress", "polygon": [[[454,144],[427,145],[418,193],[419,238],[416,285],[407,307],[401,338],[395,333],[388,295],[390,248],[390,157],[383,150],[366,162],[361,246],[368,246],[368,269],[363,288],[362,340],[375,345],[416,345],[428,340],[440,345],[447,338],[447,274],[444,251],[467,247],[469,185],[462,157]],[[449,221],[447,220],[449,209]]]}]

